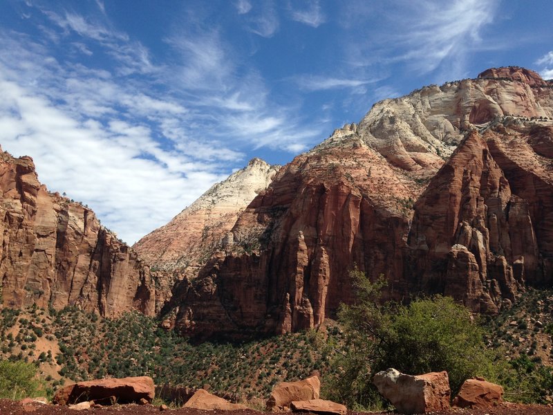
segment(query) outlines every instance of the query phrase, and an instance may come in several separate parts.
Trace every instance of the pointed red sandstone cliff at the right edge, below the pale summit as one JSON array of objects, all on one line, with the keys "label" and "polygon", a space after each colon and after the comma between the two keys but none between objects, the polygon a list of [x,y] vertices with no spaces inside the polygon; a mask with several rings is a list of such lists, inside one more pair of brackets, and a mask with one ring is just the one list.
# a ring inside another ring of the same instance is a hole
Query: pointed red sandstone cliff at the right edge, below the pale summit
[{"label": "pointed red sandstone cliff at the right edge, below the pale summit", "polygon": [[414,291],[495,313],[525,284],[552,285],[552,138],[551,122],[510,116],[469,133],[415,203]]}]

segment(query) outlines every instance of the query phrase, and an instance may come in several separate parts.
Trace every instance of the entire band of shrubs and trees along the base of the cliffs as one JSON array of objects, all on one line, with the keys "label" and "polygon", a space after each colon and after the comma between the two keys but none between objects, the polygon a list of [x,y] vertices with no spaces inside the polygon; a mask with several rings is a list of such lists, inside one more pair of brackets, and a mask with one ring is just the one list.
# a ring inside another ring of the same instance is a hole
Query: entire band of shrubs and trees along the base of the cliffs
[{"label": "entire band of shrubs and trees along the base of the cliffs", "polygon": [[[277,382],[318,370],[324,398],[355,409],[384,407],[373,374],[395,367],[408,374],[447,370],[453,391],[465,378],[481,375],[503,385],[509,400],[547,403],[553,397],[547,366],[553,361],[552,291],[528,290],[481,324],[447,297],[382,304],[383,281],[371,283],[358,271],[352,276],[357,303],[341,307],[339,323],[241,343],[192,344],[140,313],[105,319],[75,307],[4,308],[0,360],[24,369],[5,366],[9,376],[2,376],[19,386],[5,387],[2,379],[0,390],[39,394],[44,388],[35,374],[48,386],[43,395],[64,381],[146,375],[158,385],[207,384],[216,394],[247,401],[268,398]],[[36,388],[25,389],[14,374]]]}]

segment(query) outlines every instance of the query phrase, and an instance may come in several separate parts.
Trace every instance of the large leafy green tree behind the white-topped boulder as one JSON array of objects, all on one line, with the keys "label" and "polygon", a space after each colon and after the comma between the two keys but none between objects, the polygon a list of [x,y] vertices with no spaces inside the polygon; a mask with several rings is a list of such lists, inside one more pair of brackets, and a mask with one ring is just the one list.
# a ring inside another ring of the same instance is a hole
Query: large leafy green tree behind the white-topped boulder
[{"label": "large leafy green tree behind the white-topped boulder", "polygon": [[378,407],[382,398],[373,376],[388,367],[411,375],[446,370],[453,392],[467,378],[491,374],[484,332],[467,308],[441,296],[414,299],[407,306],[382,304],[382,277],[371,283],[357,269],[350,277],[357,300],[339,309],[346,344],[337,353],[329,398],[351,407]]}]

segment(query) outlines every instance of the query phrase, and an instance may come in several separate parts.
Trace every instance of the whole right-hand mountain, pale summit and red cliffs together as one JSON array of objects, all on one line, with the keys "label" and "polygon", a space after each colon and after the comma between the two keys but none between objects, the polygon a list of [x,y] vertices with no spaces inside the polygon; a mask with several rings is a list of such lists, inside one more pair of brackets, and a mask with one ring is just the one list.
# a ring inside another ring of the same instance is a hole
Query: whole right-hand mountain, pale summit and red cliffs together
[{"label": "whole right-hand mountain, pale summit and red cliffs together", "polygon": [[527,118],[553,117],[553,89],[494,71],[379,102],[283,167],[176,289],[165,311],[178,329],[317,326],[353,299],[355,264],[385,275],[387,297],[445,293],[491,313],[551,284],[550,122]]}]

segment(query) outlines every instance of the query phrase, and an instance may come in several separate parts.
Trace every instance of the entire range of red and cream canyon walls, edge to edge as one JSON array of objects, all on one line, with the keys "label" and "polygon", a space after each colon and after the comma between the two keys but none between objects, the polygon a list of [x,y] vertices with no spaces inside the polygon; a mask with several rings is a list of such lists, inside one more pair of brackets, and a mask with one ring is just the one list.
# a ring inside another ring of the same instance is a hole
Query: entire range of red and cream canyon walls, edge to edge
[{"label": "entire range of red and cream canyon walls, edge to edge", "polygon": [[283,167],[254,159],[132,248],[1,158],[2,304],[136,309],[196,338],[324,324],[355,300],[497,313],[553,282],[553,83],[524,68],[373,105]]}]

